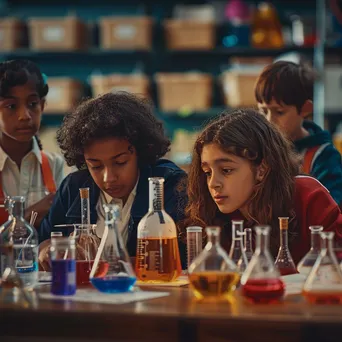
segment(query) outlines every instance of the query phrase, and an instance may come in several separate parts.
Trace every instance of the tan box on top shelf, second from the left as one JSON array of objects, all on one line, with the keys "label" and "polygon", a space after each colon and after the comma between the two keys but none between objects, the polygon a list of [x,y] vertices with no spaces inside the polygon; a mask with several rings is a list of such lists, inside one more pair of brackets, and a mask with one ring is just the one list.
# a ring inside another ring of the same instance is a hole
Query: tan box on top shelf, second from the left
[{"label": "tan box on top shelf, second from the left", "polygon": [[30,46],[35,50],[83,50],[88,42],[88,29],[76,17],[31,18]]}]

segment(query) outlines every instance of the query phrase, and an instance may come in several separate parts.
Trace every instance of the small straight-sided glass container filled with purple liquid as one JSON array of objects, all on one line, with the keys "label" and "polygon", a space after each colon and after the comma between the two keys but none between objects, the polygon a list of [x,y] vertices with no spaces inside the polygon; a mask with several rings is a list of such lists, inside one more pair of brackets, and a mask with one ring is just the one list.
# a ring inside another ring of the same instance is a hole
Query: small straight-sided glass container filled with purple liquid
[{"label": "small straight-sided glass container filled with purple liquid", "polygon": [[76,293],[75,240],[68,237],[51,239],[51,293],[70,296]]}]

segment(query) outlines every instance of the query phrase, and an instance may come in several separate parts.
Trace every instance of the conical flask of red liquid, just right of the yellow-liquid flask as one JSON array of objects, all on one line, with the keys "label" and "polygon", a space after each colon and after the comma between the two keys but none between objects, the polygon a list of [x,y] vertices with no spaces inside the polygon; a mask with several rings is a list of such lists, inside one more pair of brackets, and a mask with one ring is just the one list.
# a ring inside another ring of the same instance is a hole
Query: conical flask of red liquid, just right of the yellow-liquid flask
[{"label": "conical flask of red liquid, just right of the yellow-liquid flask", "polygon": [[241,277],[242,295],[254,303],[270,303],[283,297],[285,286],[269,252],[269,226],[257,226],[256,249]]}]

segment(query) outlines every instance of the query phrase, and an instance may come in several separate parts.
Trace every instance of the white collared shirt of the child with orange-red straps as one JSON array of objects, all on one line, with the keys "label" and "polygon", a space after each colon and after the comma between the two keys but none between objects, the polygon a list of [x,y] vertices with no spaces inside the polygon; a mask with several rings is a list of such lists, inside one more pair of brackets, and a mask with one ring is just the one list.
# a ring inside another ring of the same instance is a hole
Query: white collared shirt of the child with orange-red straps
[{"label": "white collared shirt of the child with orange-red straps", "polygon": [[[45,152],[58,188],[64,178],[64,160],[58,153]],[[33,139],[32,150],[22,159],[20,170],[18,165],[0,147],[1,184],[7,196],[25,196],[26,207],[38,202],[47,195],[42,170],[42,155],[36,139]],[[45,191],[44,191],[45,189]]]}]

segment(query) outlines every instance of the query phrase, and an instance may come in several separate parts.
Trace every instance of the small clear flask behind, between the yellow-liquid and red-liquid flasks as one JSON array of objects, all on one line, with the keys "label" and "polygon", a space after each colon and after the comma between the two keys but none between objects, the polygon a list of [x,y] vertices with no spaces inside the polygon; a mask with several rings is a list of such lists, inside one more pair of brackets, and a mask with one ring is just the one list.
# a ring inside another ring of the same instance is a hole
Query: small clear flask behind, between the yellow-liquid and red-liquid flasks
[{"label": "small clear flask behind, between the yellow-liquid and red-liquid flasks", "polygon": [[243,273],[248,265],[247,256],[243,248],[243,221],[232,221],[232,245],[229,258],[237,265],[239,273]]}]

